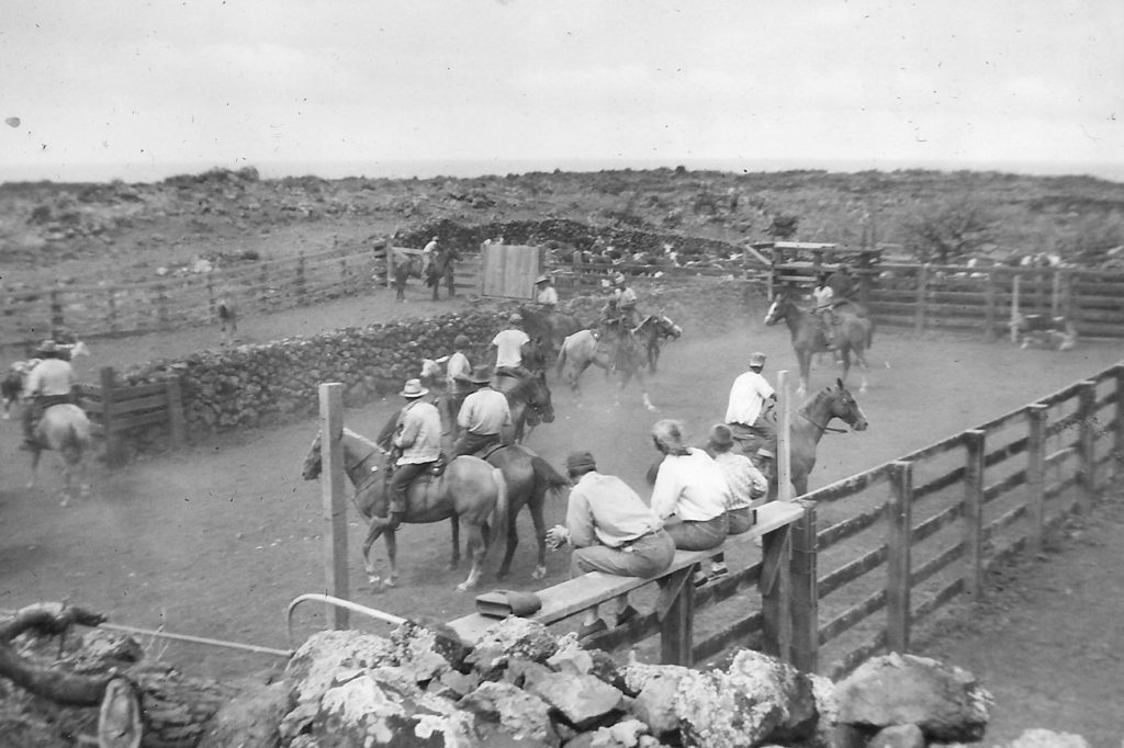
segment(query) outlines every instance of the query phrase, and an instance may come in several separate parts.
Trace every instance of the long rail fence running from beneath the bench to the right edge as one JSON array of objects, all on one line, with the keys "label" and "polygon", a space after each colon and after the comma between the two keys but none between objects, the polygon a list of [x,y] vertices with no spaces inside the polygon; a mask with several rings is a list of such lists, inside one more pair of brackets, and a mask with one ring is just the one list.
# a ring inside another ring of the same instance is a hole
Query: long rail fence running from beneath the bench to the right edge
[{"label": "long rail fence running from beneath the bench to the right edge", "polygon": [[[659,633],[664,662],[680,664],[751,646],[837,678],[873,655],[908,651],[919,622],[961,594],[982,596],[988,569],[1021,551],[1039,554],[1051,528],[1088,510],[1109,475],[1118,481],[1122,472],[1124,364],[1117,364],[801,496],[803,511],[781,520],[790,524],[760,528],[768,540],[760,554],[746,554],[736,538],[727,541],[732,573],[717,583],[682,592],[685,571],[709,554],[680,551],[678,566],[660,581],[678,583],[676,595],[685,596],[668,601],[661,592],[653,612],[598,635],[593,645],[614,649]],[[736,568],[745,556],[751,563]],[[538,618],[552,623],[653,580],[626,578],[604,590],[587,582],[569,591],[565,605],[544,602]],[[746,611],[746,591],[754,587],[761,606]],[[782,603],[770,598],[778,589]],[[553,600],[553,590],[542,591],[544,600]],[[736,604],[716,605],[725,600]],[[452,626],[471,637],[477,619]]]}]

